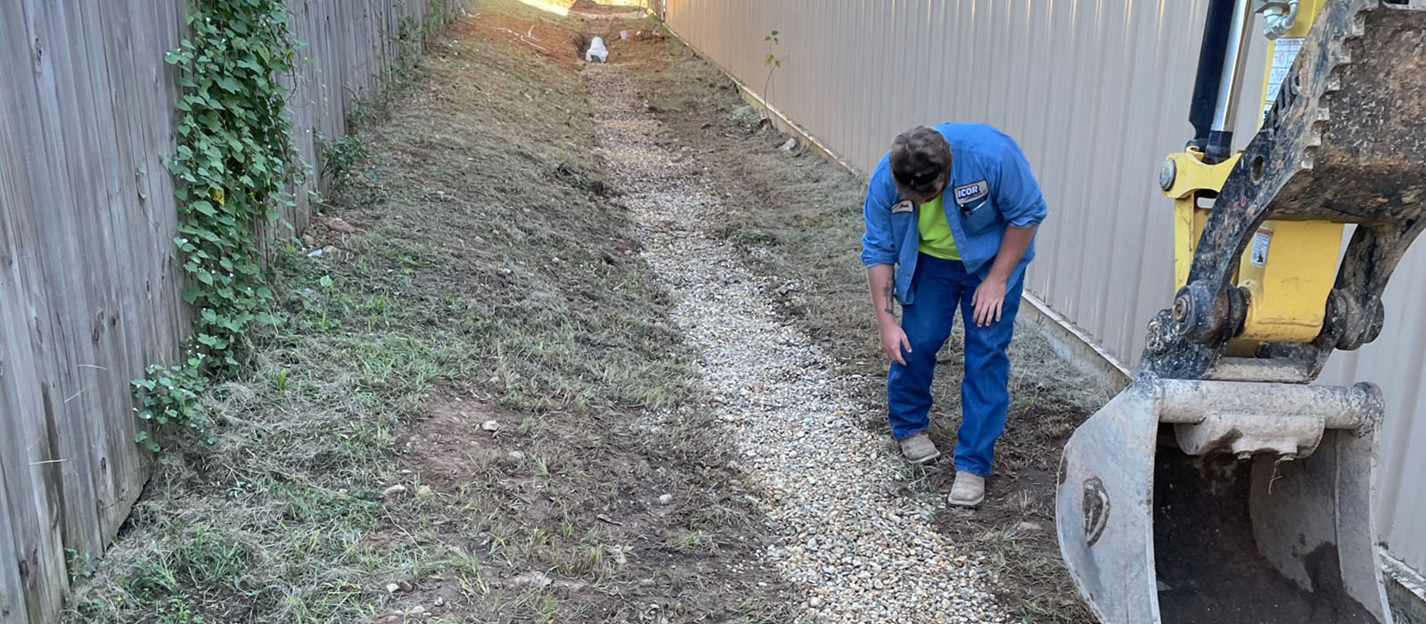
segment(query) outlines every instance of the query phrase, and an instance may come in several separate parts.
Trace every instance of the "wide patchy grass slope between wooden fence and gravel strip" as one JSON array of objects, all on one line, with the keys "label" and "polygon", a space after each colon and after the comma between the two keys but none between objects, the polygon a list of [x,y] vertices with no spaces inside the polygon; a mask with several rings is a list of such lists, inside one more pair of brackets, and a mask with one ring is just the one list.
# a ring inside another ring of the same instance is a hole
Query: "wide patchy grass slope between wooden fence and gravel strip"
[{"label": "wide patchy grass slope between wooden fence and gravel strip", "polygon": [[218,443],[76,570],[68,621],[790,620],[740,564],[760,519],[600,182],[580,24],[469,10],[331,144],[307,246],[337,252],[275,258],[285,325],[207,397]]}]

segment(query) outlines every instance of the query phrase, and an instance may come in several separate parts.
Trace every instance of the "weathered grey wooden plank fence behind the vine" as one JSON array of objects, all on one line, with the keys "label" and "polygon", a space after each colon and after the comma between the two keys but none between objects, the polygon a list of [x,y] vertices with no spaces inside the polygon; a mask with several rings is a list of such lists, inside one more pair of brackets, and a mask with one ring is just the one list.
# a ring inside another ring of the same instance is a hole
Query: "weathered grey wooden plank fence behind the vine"
[{"label": "weathered grey wooden plank fence behind the vine", "polygon": [[[305,41],[288,113],[318,134],[384,87],[461,0],[289,0]],[[184,0],[0,6],[0,624],[47,623],[67,561],[98,556],[147,477],[130,380],[188,329],[164,167]],[[305,189],[301,189],[305,191]],[[308,222],[307,194],[284,215]]]}]

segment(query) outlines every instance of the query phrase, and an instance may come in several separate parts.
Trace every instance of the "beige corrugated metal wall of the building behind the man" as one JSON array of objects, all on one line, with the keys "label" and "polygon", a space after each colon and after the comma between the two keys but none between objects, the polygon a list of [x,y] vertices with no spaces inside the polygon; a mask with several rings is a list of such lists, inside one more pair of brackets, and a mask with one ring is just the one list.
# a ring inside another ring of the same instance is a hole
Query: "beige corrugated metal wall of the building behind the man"
[{"label": "beige corrugated metal wall of the building behind the man", "polygon": [[[699,51],[851,164],[870,171],[915,124],[985,121],[1014,135],[1050,199],[1027,286],[1124,362],[1172,296],[1171,202],[1162,157],[1191,137],[1206,0],[667,0],[666,21]],[[780,43],[763,37],[779,31]],[[1265,41],[1255,37],[1239,128],[1256,128]],[[783,67],[763,64],[773,53]],[[1426,570],[1426,417],[1412,427],[1426,329],[1416,249],[1387,292],[1387,331],[1339,355],[1329,380],[1382,383],[1382,534]]]}]

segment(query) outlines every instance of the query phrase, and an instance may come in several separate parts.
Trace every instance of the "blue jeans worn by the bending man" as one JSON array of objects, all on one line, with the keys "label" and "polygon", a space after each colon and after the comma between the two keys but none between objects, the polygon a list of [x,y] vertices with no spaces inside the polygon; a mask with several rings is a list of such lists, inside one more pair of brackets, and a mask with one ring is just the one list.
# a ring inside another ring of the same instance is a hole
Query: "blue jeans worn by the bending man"
[{"label": "blue jeans worn by the bending man", "polygon": [[901,350],[906,366],[893,362],[887,373],[887,413],[891,435],[904,439],[925,430],[931,413],[931,378],[935,355],[951,335],[955,308],[965,323],[965,375],[961,378],[961,429],[955,439],[955,469],[990,474],[995,440],[1005,432],[1010,409],[1010,346],[1020,309],[1022,278],[1005,288],[1000,322],[975,326],[971,296],[980,278],[957,261],[930,255],[917,258],[911,288],[914,303],[901,308],[901,331],[911,352]]}]

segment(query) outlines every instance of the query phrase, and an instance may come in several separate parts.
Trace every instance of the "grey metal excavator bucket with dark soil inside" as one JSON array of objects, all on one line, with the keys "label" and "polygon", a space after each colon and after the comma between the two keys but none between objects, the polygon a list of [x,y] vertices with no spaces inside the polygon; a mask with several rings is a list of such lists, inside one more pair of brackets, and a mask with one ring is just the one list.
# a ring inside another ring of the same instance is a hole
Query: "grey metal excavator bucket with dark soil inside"
[{"label": "grey metal excavator bucket with dark soil inside", "polygon": [[1065,446],[1060,546],[1115,624],[1389,624],[1380,390],[1144,376]]}]

